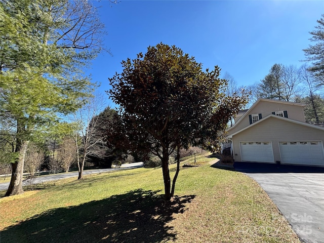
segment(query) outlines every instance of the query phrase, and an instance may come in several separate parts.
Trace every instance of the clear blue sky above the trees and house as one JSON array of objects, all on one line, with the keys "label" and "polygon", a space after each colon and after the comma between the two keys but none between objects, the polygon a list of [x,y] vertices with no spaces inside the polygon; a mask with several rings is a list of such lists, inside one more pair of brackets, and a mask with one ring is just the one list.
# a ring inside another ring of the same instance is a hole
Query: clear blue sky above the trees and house
[{"label": "clear blue sky above the trees and house", "polygon": [[120,62],[162,42],[194,56],[203,68],[218,65],[239,86],[258,82],[275,63],[301,66],[302,49],[324,14],[324,1],[108,1],[99,8],[108,34],[87,73],[110,89]]}]

